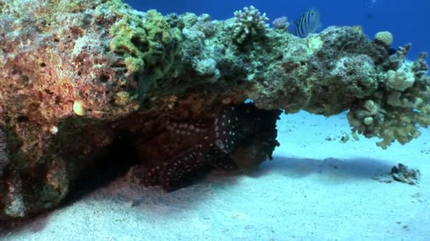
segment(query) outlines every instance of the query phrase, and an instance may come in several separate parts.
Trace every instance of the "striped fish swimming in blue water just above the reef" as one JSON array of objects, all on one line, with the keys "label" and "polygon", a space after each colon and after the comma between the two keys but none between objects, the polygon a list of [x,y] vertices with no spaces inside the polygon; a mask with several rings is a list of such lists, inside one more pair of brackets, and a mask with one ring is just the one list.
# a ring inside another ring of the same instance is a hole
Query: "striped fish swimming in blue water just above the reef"
[{"label": "striped fish swimming in blue water just above the reef", "polygon": [[306,11],[301,18],[294,21],[296,28],[294,29],[294,35],[298,37],[306,37],[310,33],[315,32],[320,27],[320,12],[315,8],[310,8]]}]

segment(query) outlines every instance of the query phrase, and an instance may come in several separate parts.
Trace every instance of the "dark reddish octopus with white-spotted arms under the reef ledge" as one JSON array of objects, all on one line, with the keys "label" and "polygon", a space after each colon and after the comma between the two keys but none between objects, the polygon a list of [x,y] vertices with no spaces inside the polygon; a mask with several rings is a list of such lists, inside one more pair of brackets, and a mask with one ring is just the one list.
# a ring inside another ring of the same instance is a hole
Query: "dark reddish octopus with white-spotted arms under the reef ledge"
[{"label": "dark reddish octopus with white-spotted arms under the reef ledge", "polygon": [[[253,104],[226,106],[212,122],[168,120],[165,128],[173,135],[193,135],[191,147],[168,160],[146,167],[144,185],[160,185],[170,192],[190,185],[211,168],[232,171],[253,168],[272,158],[276,121],[280,111],[258,110]],[[246,159],[249,159],[250,163]]]}]

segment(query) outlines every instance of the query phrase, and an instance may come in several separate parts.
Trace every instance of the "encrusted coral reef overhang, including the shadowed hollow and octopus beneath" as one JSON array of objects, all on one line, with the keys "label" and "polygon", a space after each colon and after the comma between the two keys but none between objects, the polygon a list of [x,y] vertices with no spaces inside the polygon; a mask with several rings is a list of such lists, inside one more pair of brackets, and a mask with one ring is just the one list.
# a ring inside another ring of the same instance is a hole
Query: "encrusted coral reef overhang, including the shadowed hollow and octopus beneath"
[{"label": "encrusted coral reef overhang, including the shadowed hollow and octopus beneath", "polygon": [[219,21],[0,0],[0,220],[57,206],[103,164],[168,191],[250,171],[278,144],[280,109],[349,110],[352,131],[384,149],[429,125],[426,54],[391,55],[359,26],[302,39],[266,20],[253,7]]}]

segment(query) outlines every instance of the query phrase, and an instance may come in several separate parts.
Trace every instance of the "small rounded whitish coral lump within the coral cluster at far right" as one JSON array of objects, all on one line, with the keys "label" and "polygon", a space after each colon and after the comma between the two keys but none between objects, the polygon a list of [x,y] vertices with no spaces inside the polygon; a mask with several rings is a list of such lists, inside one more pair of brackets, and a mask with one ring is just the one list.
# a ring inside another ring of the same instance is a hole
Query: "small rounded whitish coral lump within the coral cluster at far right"
[{"label": "small rounded whitish coral lump within the coral cluster at far right", "polygon": [[410,68],[403,66],[397,70],[387,71],[387,85],[391,89],[398,91],[405,91],[405,89],[412,87],[415,82],[415,76]]}]

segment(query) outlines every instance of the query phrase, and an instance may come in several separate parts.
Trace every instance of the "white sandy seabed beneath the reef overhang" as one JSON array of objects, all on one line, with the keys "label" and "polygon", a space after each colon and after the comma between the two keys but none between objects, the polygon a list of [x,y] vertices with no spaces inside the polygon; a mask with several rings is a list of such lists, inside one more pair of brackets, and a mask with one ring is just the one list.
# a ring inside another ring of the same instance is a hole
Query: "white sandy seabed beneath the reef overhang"
[{"label": "white sandy seabed beneath the reef overhang", "polygon": [[[344,115],[297,113],[278,129],[274,160],[250,175],[170,194],[117,181],[0,239],[430,240],[428,130],[383,151],[364,137],[340,143]],[[400,162],[419,168],[419,185],[373,180]]]}]

